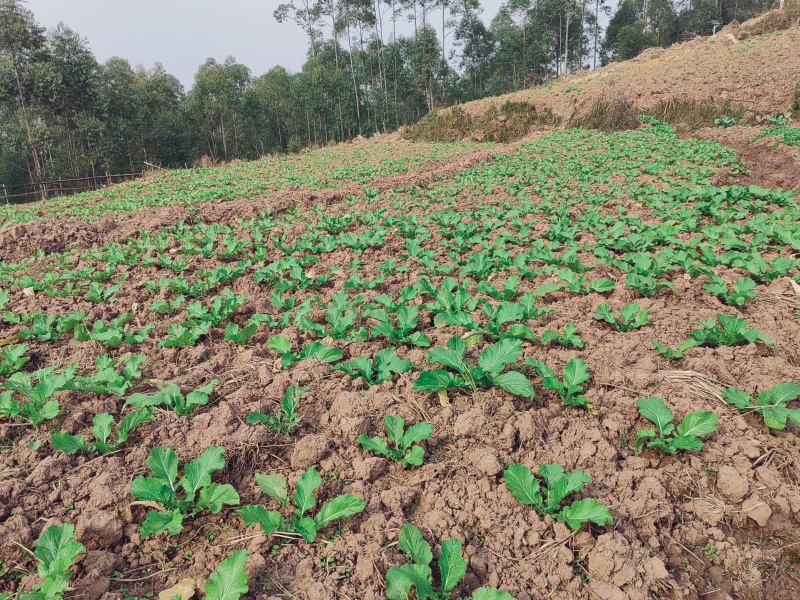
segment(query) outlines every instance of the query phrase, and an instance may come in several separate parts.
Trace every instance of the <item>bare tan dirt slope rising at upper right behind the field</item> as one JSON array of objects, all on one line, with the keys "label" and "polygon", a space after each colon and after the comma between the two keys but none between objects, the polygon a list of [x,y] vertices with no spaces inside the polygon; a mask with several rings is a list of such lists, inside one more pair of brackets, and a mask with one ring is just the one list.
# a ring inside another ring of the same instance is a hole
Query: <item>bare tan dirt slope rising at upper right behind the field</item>
[{"label": "bare tan dirt slope rising at upper right behind the field", "polygon": [[800,11],[772,11],[714,37],[649,48],[595,71],[435,111],[405,135],[503,142],[549,125],[630,128],[638,114],[693,125],[726,113],[754,121],[789,114],[800,98],[798,25]]}]

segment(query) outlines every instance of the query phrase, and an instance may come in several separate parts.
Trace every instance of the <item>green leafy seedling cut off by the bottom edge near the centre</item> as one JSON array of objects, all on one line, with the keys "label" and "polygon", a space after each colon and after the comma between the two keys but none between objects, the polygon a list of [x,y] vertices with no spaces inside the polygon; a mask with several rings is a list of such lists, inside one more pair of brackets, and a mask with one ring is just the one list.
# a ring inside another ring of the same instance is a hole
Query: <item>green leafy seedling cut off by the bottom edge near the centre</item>
[{"label": "green leafy seedling cut off by the bottom edge near the centre", "polygon": [[[397,546],[408,556],[410,562],[392,567],[386,572],[386,596],[390,600],[405,600],[414,590],[419,600],[450,598],[453,588],[467,572],[467,563],[461,556],[461,542],[450,538],[442,542],[439,556],[439,591],[434,590],[433,550],[422,537],[419,529],[406,523],[400,530]],[[514,600],[514,597],[495,588],[480,588],[471,596],[472,600]]]}]

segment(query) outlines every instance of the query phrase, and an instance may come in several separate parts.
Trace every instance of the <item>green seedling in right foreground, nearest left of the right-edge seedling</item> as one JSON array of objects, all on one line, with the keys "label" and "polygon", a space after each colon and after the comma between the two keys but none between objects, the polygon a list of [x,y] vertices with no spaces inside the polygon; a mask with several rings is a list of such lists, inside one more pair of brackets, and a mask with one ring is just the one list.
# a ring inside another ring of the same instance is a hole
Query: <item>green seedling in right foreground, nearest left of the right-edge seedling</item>
[{"label": "green seedling in right foreground, nearest left of the right-edge seedling", "polygon": [[711,411],[691,412],[676,428],[672,423],[675,415],[661,398],[639,398],[638,404],[639,414],[652,422],[656,429],[640,429],[636,433],[634,449],[637,453],[645,447],[671,456],[679,450],[700,450],[703,447],[700,438],[717,430],[719,418]]}]

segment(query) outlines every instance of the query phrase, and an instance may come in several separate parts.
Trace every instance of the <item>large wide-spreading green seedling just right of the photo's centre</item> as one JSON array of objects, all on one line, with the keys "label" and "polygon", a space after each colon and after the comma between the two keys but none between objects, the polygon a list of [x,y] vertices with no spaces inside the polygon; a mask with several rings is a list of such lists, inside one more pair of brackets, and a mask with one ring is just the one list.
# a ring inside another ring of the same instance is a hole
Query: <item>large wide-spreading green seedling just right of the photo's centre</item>
[{"label": "large wide-spreading green seedling just right of the photo's centre", "polygon": [[[467,343],[452,337],[447,348],[434,348],[428,352],[433,364],[445,369],[423,371],[419,374],[414,389],[418,392],[440,392],[448,389],[464,389],[474,392],[478,388],[497,386],[509,394],[532,399],[533,386],[519,371],[507,371],[508,365],[522,356],[522,342],[517,339],[502,339],[488,346],[480,355],[478,364],[466,361]],[[452,371],[455,371],[453,373]]]}]

